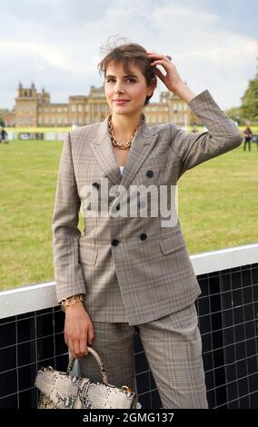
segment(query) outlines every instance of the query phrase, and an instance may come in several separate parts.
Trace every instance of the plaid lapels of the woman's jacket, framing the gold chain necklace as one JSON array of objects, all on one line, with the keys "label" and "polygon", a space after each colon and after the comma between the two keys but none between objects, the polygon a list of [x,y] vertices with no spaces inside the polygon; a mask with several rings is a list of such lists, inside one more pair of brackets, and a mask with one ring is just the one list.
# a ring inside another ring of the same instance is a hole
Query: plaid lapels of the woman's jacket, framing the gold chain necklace
[{"label": "plaid lapels of the woman's jacket, framing the gold chain necklace", "polygon": [[134,175],[137,174],[144,160],[151,153],[157,136],[157,130],[148,128],[144,115],[144,123],[134,136],[124,164],[123,175],[121,175],[119,165],[115,159],[113,144],[108,131],[108,116],[99,125],[96,138],[90,144],[97,162],[104,170],[104,174],[108,176],[113,184],[120,184],[128,188],[134,179]]}]

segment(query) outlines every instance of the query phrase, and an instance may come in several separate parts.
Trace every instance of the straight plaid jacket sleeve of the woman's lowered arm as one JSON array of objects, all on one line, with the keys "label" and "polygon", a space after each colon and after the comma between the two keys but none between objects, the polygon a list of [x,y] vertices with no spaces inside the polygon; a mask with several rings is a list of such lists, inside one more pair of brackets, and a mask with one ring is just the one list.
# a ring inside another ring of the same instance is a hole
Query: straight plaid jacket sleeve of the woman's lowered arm
[{"label": "straight plaid jacket sleeve of the woman's lowered arm", "polygon": [[58,303],[76,293],[85,293],[84,276],[79,263],[80,205],[68,133],[60,158],[52,216],[55,291]]}]

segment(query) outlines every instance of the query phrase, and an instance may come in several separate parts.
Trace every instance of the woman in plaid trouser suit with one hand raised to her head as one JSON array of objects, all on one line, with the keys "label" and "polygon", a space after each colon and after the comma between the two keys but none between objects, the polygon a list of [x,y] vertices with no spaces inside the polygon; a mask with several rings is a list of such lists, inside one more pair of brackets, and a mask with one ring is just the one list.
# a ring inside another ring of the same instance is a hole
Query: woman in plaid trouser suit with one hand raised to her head
[{"label": "woman in plaid trouser suit with one hand raised to her head", "polygon": [[[109,382],[135,390],[137,325],[164,408],[206,408],[194,306],[201,291],[180,223],[174,217],[163,221],[163,214],[135,216],[134,209],[127,217],[119,216],[124,201],[133,201],[128,193],[135,185],[166,185],[169,197],[170,187],[186,170],[242,141],[209,91],[194,94],[171,59],[127,44],[112,49],[99,65],[111,113],[65,140],[53,215],[56,293],[65,309],[65,343],[79,359],[83,376],[100,381],[93,358],[84,357],[86,345],[94,344]],[[209,132],[186,134],[174,124],[146,125],[143,109],[157,77]],[[77,224],[82,200],[81,235]],[[104,201],[112,203],[108,214],[96,203],[103,207]],[[145,207],[149,214],[149,204]]]}]

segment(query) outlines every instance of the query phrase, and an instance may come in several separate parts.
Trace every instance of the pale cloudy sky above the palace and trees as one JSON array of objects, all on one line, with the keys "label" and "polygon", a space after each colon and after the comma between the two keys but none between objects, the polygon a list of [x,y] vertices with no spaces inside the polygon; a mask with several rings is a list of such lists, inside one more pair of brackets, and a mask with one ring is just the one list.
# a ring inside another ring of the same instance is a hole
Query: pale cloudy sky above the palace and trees
[{"label": "pale cloudy sky above the palace and trees", "polygon": [[[88,94],[103,84],[100,47],[115,35],[172,55],[193,92],[237,106],[257,66],[257,15],[256,0],[1,2],[0,108],[14,106],[19,82],[44,86],[55,103]],[[165,89],[159,81],[153,100]]]}]

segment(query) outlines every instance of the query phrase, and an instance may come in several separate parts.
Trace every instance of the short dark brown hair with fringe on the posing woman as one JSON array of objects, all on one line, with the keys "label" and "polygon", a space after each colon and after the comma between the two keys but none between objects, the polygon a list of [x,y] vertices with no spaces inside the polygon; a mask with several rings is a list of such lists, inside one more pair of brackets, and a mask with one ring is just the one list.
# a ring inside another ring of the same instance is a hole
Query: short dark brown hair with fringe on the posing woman
[{"label": "short dark brown hair with fringe on the posing woman", "polygon": [[[156,87],[157,78],[154,72],[154,67],[151,65],[154,59],[147,56],[147,51],[143,46],[137,45],[135,43],[109,45],[107,42],[106,45],[101,47],[101,51],[105,52],[105,55],[101,62],[97,65],[99,68],[99,74],[104,73],[105,76],[106,69],[111,63],[114,65],[122,64],[124,67],[124,73],[132,74],[130,65],[134,65],[144,74],[146,85],[153,85],[154,88]],[[144,106],[149,104],[149,100],[153,94],[146,96]]]}]

